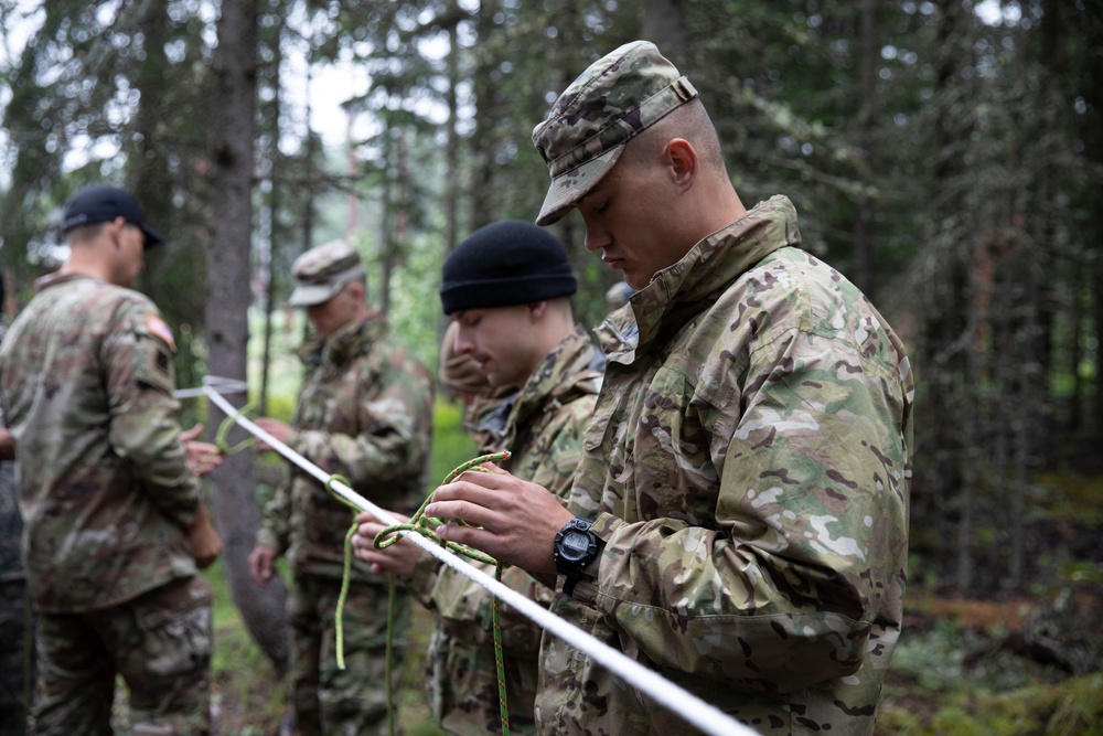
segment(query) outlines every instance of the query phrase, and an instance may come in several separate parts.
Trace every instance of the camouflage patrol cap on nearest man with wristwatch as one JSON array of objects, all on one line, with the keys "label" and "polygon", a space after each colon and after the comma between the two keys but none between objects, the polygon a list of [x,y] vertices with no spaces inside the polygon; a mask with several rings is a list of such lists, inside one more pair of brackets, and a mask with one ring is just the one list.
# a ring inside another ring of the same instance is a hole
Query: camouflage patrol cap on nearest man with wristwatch
[{"label": "camouflage patrol cap on nearest man with wristwatch", "polygon": [[689,81],[649,41],[633,41],[576,78],[533,143],[552,173],[537,225],[556,222],[610,170],[624,143],[697,96]]}]

